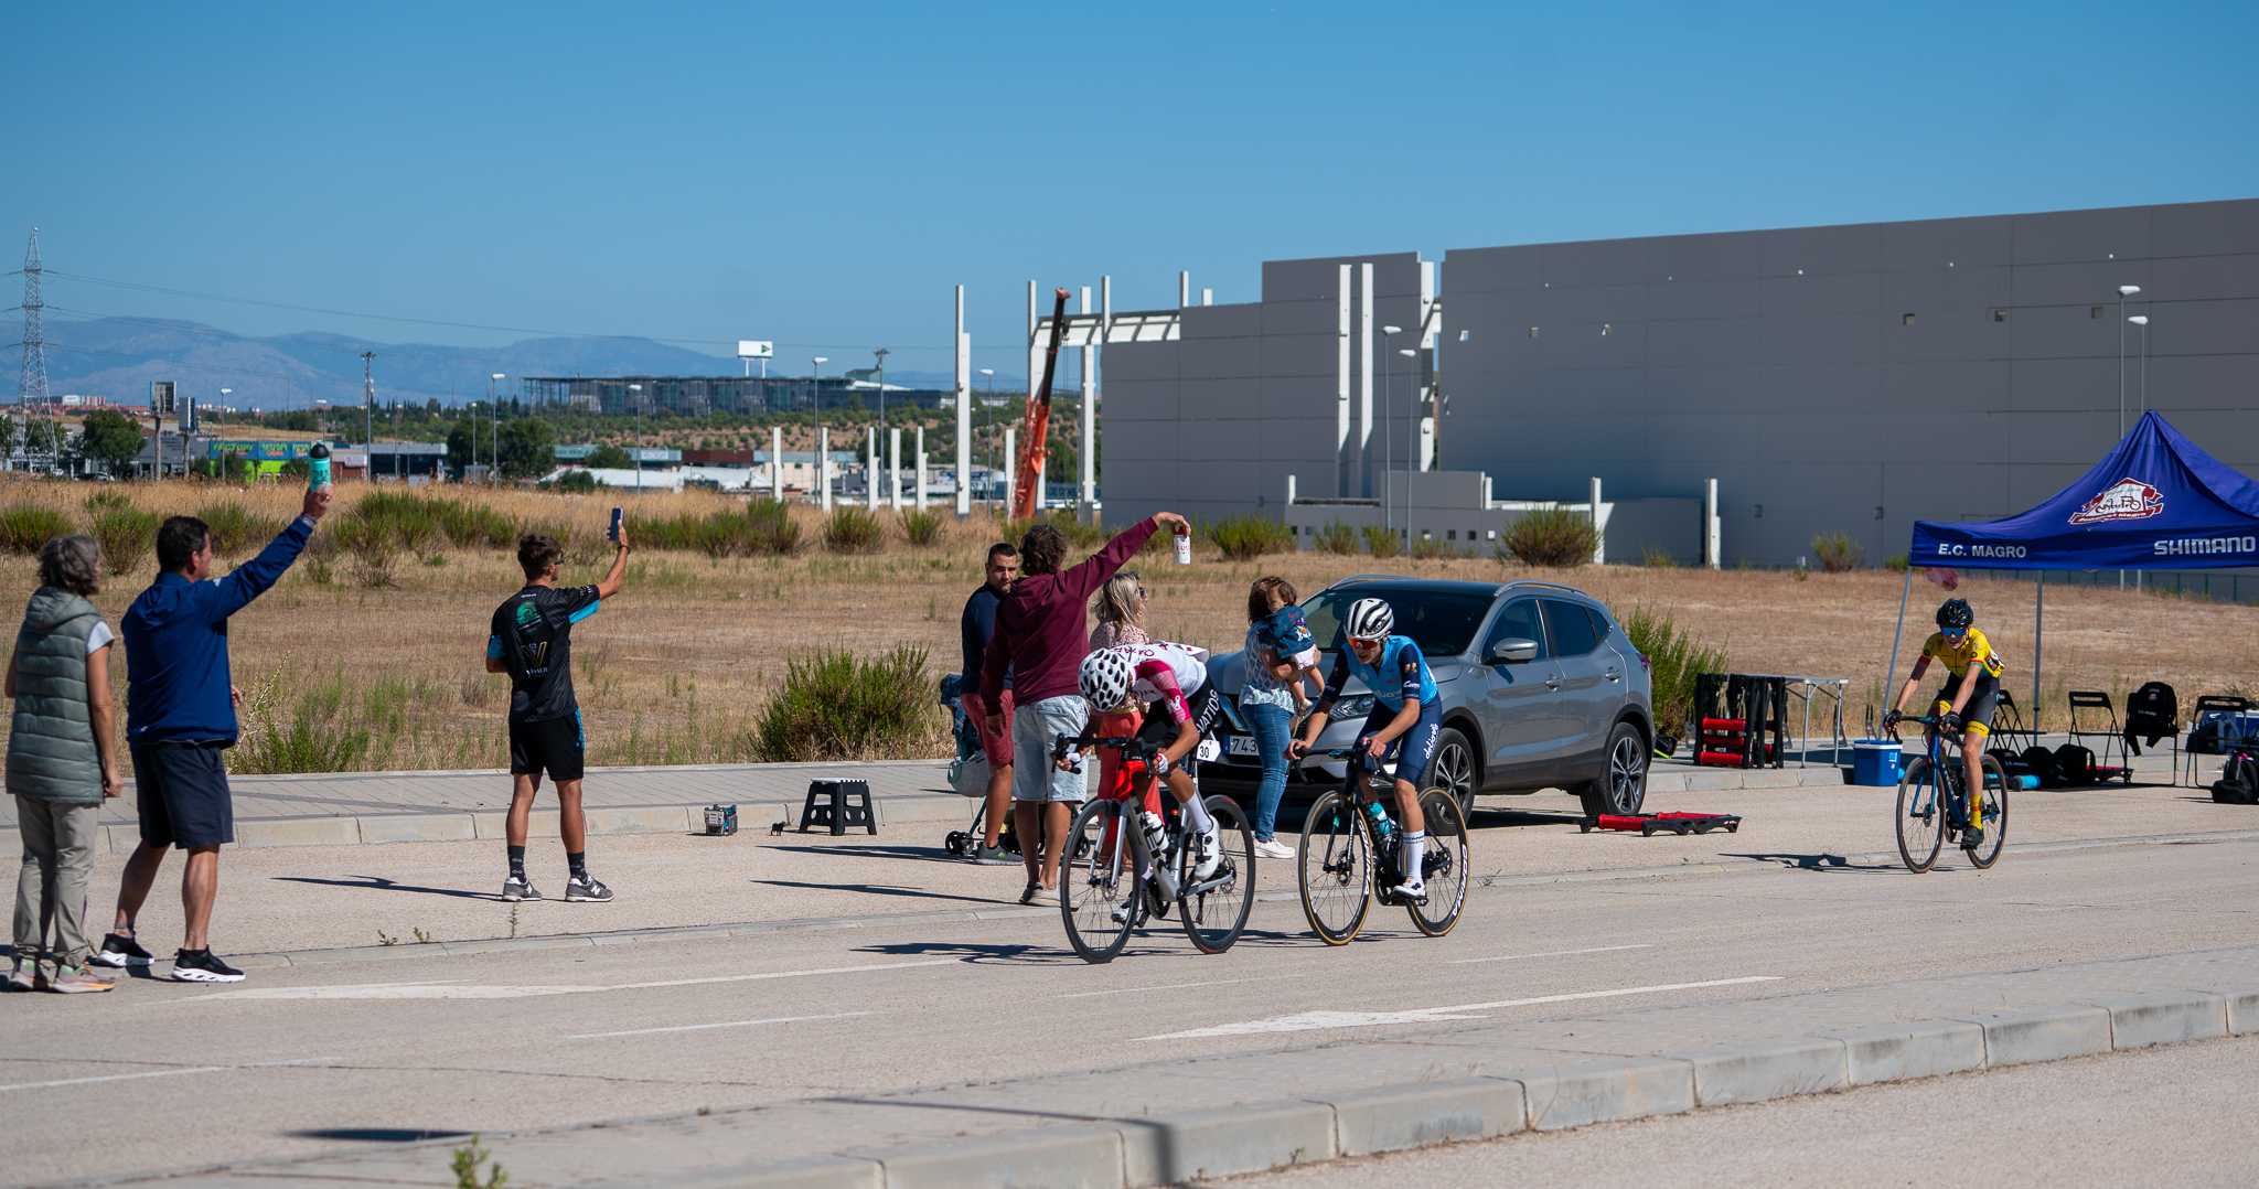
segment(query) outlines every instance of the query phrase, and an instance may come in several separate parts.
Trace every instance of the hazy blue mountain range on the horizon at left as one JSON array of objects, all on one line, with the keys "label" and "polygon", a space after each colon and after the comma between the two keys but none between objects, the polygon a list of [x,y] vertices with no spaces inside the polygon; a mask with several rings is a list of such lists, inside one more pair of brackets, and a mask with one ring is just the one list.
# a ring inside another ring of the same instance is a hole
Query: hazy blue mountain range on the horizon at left
[{"label": "hazy blue mountain range on the horizon at left", "polygon": [[[486,377],[520,375],[741,375],[734,357],[653,339],[524,339],[501,348],[380,344],[346,335],[298,332],[253,339],[192,321],[86,319],[45,323],[47,389],[145,405],[151,380],[174,380],[183,396],[260,409],[303,409],[314,400],[361,402],[361,353],[375,350],[377,400],[456,405],[486,398]],[[23,323],[0,321],[0,402],[14,402]],[[949,373],[888,371],[888,384],[947,389]],[[1021,380],[996,377],[998,391]],[[978,377],[976,377],[978,387]],[[515,391],[515,384],[508,384]]]}]

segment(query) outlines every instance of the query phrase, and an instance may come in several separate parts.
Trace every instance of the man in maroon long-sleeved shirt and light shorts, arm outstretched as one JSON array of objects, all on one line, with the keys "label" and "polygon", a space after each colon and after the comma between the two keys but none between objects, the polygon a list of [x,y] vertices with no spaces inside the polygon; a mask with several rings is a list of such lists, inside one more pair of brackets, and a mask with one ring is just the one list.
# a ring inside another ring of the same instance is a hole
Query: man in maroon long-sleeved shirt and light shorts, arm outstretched
[{"label": "man in maroon long-sleeved shirt and light shorts, arm outstretched", "polygon": [[[1037,524],[1019,540],[1021,576],[996,608],[996,635],[980,662],[980,698],[998,705],[1003,674],[1012,674],[1012,830],[1028,866],[1028,891],[1019,902],[1057,902],[1059,848],[1066,825],[1082,802],[1082,775],[1062,773],[1050,764],[1050,744],[1059,735],[1082,735],[1089,708],[1082,705],[1080,669],[1089,653],[1084,608],[1159,527],[1179,533],[1193,527],[1172,511],[1123,529],[1080,565],[1059,570],[1066,561],[1066,538],[1050,524]],[[989,730],[1003,730],[992,717]],[[1037,839],[1044,841],[1037,854]]]}]

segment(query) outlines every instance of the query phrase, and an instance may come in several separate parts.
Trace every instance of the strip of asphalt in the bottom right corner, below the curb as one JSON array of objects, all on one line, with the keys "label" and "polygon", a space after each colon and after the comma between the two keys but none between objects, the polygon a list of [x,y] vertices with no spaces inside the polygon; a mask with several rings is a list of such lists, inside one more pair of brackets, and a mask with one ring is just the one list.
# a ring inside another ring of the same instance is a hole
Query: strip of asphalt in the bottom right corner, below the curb
[{"label": "strip of asphalt in the bottom right corner, below the curb", "polygon": [[1231,1189],[2259,1184],[2259,1038],[1516,1135],[1231,1178]]}]

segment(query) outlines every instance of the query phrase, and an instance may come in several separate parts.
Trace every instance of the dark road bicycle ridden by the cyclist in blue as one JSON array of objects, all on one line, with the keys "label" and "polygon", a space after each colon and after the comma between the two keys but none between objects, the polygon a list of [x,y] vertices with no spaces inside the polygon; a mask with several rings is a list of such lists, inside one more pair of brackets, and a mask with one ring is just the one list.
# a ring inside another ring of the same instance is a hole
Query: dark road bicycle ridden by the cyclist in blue
[{"label": "dark road bicycle ridden by the cyclist in blue", "polygon": [[1349,945],[1364,929],[1364,913],[1378,900],[1403,904],[1412,913],[1412,927],[1430,938],[1448,934],[1459,925],[1473,870],[1466,859],[1466,814],[1459,800],[1444,789],[1419,796],[1421,816],[1428,818],[1428,848],[1419,863],[1428,895],[1401,897],[1396,886],[1403,884],[1403,875],[1396,852],[1403,830],[1387,809],[1396,798],[1396,766],[1380,764],[1367,771],[1364,748],[1335,748],[1326,755],[1346,760],[1349,771],[1340,789],[1310,805],[1310,816],[1301,825],[1294,884],[1310,929],[1326,945]]}]

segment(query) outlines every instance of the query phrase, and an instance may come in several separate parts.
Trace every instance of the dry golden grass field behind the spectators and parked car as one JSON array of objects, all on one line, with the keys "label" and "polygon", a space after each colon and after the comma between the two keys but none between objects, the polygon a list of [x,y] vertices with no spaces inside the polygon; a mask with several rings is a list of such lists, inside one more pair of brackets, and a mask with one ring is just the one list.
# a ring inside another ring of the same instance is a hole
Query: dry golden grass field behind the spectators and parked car
[{"label": "dry golden grass field behind the spectators and parked car", "polygon": [[[63,511],[84,531],[88,484],[0,484],[0,513],[23,504]],[[296,488],[221,484],[117,484],[117,493],[151,513],[194,513],[239,504],[280,524],[296,511]],[[339,511],[316,533],[316,549],[282,583],[230,624],[237,685],[246,694],[244,748],[235,764],[255,771],[366,732],[346,753],[348,769],[501,766],[506,678],[481,667],[492,608],[517,590],[508,549],[463,549],[438,543],[404,556],[391,585],[373,585],[334,543],[366,488],[346,486]],[[601,543],[614,500],[628,504],[630,536],[639,520],[703,515],[741,500],[705,493],[621,497],[535,491],[452,491],[520,524],[572,536],[567,581],[596,581],[608,561]],[[831,554],[820,543],[813,509],[795,509],[804,545],[791,556],[709,558],[703,552],[639,549],[626,592],[574,631],[574,683],[587,721],[594,764],[687,764],[752,760],[752,723],[775,694],[786,662],[811,649],[876,656],[897,644],[928,651],[935,678],[958,665],[958,613],[980,581],[980,556],[998,524],[976,515],[944,527],[933,545],[904,540],[892,513],[883,549]],[[332,540],[321,540],[332,538]],[[260,543],[233,549],[242,561]],[[1739,671],[1828,674],[1852,678],[1855,723],[1873,701],[1891,651],[1900,574],[1701,572],[1651,567],[1579,567],[1532,572],[1493,558],[1392,558],[1276,554],[1227,563],[1195,543],[1195,565],[1177,567],[1163,552],[1134,563],[1152,599],[1150,626],[1166,637],[1236,649],[1245,631],[1247,583],[1283,574],[1306,594],[1344,574],[1396,574],[1498,581],[1543,576],[1604,599],[1620,615],[1633,608],[1669,615],[1697,642],[1721,646]],[[97,597],[115,624],[147,585],[154,558],[108,581]],[[9,606],[36,585],[29,556],[0,558]],[[1965,579],[1979,626],[2008,656],[2011,687],[2031,687],[2033,583]],[[1927,635],[1943,592],[1913,585],[1907,649]],[[2060,708],[2067,687],[2123,696],[2144,680],[2169,680],[2187,705],[2200,692],[2245,692],[2259,642],[2254,610],[2117,588],[2049,588],[2047,687]],[[1902,660],[1902,667],[1907,660]],[[124,665],[117,665],[120,687]],[[2051,721],[2060,723],[2060,710]],[[282,746],[282,744],[289,746]],[[947,748],[940,708],[926,730],[895,753],[937,755]]]}]

